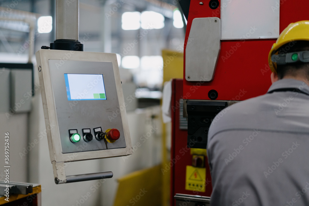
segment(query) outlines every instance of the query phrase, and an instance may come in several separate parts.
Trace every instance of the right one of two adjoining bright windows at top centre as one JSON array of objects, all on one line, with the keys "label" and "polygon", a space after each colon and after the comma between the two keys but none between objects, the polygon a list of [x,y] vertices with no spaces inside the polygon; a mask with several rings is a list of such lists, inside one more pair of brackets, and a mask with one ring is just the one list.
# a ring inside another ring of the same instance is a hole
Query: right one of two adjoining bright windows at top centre
[{"label": "right one of two adjoining bright windows at top centre", "polygon": [[141,14],[142,29],[162,29],[164,16],[154,11],[143,11]]}]

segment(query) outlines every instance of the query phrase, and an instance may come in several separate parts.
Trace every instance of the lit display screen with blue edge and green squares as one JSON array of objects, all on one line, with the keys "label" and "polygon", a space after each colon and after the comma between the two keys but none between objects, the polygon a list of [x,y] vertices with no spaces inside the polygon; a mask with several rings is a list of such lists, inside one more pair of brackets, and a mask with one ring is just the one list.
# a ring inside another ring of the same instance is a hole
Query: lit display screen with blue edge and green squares
[{"label": "lit display screen with blue edge and green squares", "polygon": [[64,74],[68,100],[105,100],[102,74]]}]

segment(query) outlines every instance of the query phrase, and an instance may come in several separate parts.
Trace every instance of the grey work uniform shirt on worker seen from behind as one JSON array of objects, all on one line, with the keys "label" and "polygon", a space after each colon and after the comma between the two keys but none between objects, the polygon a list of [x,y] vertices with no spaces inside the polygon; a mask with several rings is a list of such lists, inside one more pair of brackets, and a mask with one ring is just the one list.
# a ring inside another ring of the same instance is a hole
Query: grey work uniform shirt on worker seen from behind
[{"label": "grey work uniform shirt on worker seen from behind", "polygon": [[227,107],[207,144],[211,205],[309,206],[309,87],[279,80]]}]

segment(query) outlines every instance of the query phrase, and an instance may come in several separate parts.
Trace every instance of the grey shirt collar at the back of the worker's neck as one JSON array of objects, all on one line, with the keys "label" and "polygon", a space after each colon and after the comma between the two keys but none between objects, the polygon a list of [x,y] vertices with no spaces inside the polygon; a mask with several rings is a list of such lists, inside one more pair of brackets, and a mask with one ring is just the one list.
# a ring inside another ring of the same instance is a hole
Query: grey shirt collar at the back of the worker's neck
[{"label": "grey shirt collar at the back of the worker's neck", "polygon": [[309,86],[303,82],[296,79],[281,79],[277,82],[274,82],[267,92],[271,92],[273,90],[285,89],[285,88],[295,88],[299,89],[302,92],[309,95]]}]

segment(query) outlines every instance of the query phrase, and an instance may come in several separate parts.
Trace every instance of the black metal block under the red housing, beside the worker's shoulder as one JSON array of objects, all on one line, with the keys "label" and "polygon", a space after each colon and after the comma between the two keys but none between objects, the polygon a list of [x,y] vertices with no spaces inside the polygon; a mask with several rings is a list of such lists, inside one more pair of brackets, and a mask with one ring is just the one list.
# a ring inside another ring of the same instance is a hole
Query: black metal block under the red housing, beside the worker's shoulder
[{"label": "black metal block under the red housing, beside the worker's shoulder", "polygon": [[189,148],[206,149],[210,124],[214,117],[228,103],[225,101],[191,101],[187,100]]}]

